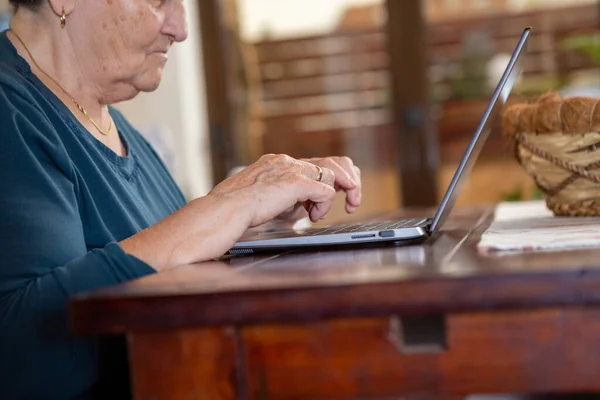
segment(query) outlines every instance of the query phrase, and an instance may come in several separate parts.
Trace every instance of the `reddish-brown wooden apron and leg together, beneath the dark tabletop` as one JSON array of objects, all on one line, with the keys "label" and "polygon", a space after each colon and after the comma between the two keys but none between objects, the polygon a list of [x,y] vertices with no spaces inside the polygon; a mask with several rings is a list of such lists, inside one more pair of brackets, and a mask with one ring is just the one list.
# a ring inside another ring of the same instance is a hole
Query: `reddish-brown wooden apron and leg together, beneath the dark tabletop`
[{"label": "reddish-brown wooden apron and leg together, beneath the dark tabletop", "polygon": [[138,400],[600,391],[599,317],[576,308],[455,314],[446,350],[410,354],[392,317],[251,326],[241,342],[234,328],[133,333],[133,387]]}]

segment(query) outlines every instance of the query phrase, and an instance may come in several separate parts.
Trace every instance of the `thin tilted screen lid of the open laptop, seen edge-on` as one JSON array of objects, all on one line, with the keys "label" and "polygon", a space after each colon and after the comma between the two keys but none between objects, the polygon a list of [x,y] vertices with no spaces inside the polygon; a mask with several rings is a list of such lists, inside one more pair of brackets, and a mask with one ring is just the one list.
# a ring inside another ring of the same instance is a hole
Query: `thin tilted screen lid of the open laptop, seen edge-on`
[{"label": "thin tilted screen lid of the open laptop, seen edge-on", "polygon": [[506,70],[502,74],[502,78],[498,83],[498,86],[494,90],[492,94],[492,99],[488,104],[481,121],[475,131],[475,135],[465,154],[460,160],[460,164],[454,173],[454,177],[452,177],[452,181],[448,186],[448,190],[446,190],[446,194],[444,194],[444,198],[438,208],[435,216],[433,217],[433,221],[431,223],[430,232],[433,233],[439,229],[440,226],[444,224],[450,212],[452,211],[452,207],[456,202],[456,198],[462,185],[465,182],[465,178],[471,172],[475,161],[479,157],[479,153],[481,153],[481,149],[490,135],[492,124],[494,119],[498,116],[501,108],[504,106],[506,99],[510,95],[510,92],[513,88],[519,73],[521,72],[523,66],[523,58],[525,55],[526,47],[527,47],[527,39],[529,38],[529,33],[531,28],[526,28],[521,35],[521,39],[517,43],[517,47],[508,62]]}]

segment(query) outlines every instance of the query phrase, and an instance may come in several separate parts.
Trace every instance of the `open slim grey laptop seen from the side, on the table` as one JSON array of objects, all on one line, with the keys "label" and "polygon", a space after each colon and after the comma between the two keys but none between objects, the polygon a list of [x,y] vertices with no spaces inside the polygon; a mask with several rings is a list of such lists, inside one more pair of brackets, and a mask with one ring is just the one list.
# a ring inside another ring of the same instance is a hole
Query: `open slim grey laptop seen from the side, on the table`
[{"label": "open slim grey laptop seen from the side, on the table", "polygon": [[414,243],[432,236],[444,225],[452,211],[458,193],[490,134],[494,117],[499,114],[499,109],[506,102],[521,72],[530,31],[531,28],[526,28],[523,31],[433,218],[411,218],[367,224],[332,225],[304,230],[255,233],[243,236],[229,250],[229,254],[243,255],[265,251],[287,251],[343,245],[362,246],[382,242],[403,244]]}]

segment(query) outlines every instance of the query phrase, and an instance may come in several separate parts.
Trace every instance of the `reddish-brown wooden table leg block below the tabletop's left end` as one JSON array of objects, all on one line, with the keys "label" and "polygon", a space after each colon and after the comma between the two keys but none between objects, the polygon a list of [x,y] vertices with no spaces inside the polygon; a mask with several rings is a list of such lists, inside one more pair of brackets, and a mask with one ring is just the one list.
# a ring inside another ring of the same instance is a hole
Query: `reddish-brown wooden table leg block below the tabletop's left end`
[{"label": "reddish-brown wooden table leg block below the tabletop's left end", "polygon": [[135,400],[238,399],[233,329],[128,334]]}]

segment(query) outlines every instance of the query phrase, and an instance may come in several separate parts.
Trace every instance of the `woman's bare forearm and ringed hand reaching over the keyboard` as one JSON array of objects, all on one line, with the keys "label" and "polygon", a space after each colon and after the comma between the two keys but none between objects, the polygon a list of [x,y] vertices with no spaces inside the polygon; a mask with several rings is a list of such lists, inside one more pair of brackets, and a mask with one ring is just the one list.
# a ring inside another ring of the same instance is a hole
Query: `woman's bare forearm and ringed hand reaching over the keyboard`
[{"label": "woman's bare forearm and ringed hand reaching over the keyboard", "polygon": [[336,177],[328,166],[337,168],[330,162],[318,168],[315,163],[285,155],[263,156],[207,196],[122,241],[121,246],[160,270],[219,257],[248,228],[292,212],[298,204],[308,210],[312,221],[324,218],[336,186],[347,193],[354,190],[347,200],[347,209],[350,202],[352,210],[360,202],[358,184],[346,175]]}]

